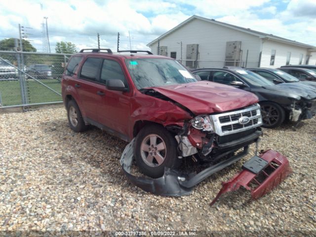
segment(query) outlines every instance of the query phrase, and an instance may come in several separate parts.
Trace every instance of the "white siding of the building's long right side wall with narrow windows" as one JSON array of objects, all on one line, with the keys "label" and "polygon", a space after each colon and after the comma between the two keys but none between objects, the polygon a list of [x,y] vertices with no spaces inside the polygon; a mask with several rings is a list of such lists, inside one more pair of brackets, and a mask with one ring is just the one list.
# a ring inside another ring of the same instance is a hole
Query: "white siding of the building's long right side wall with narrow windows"
[{"label": "white siding of the building's long right side wall with narrow windows", "polygon": [[[270,65],[271,51],[273,49],[276,50],[275,65]],[[272,40],[263,40],[260,67],[278,68],[286,65],[287,52],[291,52],[290,64],[299,64],[301,54],[303,54],[302,64],[305,64],[306,55],[308,54],[307,48],[279,43]]]}]

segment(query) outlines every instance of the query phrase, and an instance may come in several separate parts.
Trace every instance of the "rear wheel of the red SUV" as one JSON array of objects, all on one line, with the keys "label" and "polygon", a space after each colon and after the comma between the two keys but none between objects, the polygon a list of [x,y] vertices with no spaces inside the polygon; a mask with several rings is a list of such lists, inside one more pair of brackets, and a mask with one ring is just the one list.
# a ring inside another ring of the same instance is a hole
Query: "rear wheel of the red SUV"
[{"label": "rear wheel of the red SUV", "polygon": [[83,132],[87,129],[75,100],[70,100],[67,104],[67,117],[70,128],[73,131]]}]

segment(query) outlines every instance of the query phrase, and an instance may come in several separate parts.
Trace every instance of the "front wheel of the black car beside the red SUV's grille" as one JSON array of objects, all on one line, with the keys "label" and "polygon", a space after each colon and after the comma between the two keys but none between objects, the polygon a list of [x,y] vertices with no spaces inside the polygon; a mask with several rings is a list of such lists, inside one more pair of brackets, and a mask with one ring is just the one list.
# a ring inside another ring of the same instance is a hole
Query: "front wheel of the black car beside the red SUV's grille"
[{"label": "front wheel of the black car beside the red SUV's grille", "polygon": [[262,102],[260,106],[263,127],[275,128],[281,125],[285,119],[285,111],[281,106],[274,102]]}]

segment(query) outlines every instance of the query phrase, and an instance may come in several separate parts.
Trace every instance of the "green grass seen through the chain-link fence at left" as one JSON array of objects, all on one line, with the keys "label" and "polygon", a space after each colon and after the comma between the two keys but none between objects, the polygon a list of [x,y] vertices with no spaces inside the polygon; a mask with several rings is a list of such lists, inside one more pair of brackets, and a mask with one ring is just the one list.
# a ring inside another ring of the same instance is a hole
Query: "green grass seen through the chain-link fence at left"
[{"label": "green grass seen through the chain-link fence at left", "polygon": [[[41,79],[40,82],[61,93],[61,84],[57,79]],[[27,100],[29,104],[62,101],[61,96],[49,90],[33,79],[26,80]],[[21,105],[22,96],[19,80],[0,81],[2,106]]]}]

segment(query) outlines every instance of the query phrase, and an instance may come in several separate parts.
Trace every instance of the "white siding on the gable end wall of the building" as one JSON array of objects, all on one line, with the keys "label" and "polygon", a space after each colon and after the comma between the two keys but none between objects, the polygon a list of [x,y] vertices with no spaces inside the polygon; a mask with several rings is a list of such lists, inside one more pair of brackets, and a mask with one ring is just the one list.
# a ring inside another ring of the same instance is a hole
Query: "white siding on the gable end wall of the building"
[{"label": "white siding on the gable end wall of the building", "polygon": [[[167,55],[170,57],[171,52],[176,52],[176,59],[181,60],[183,64],[186,60],[187,44],[199,44],[199,68],[223,67],[225,61],[225,51],[227,41],[241,41],[242,57],[241,66],[257,67],[259,61],[259,50],[261,39],[247,33],[234,29],[222,27],[203,20],[194,19],[184,25],[177,31],[172,32],[160,40],[160,46],[167,46]],[[157,54],[158,43],[151,45],[151,50]],[[246,54],[248,50],[247,65]]]}]

